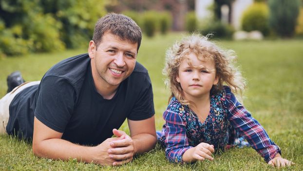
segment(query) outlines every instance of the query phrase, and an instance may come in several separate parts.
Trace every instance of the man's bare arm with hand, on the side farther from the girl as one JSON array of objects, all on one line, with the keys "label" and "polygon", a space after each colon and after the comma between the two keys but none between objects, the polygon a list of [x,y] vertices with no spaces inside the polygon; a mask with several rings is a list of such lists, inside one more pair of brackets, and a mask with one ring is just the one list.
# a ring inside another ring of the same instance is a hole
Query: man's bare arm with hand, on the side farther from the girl
[{"label": "man's bare arm with hand, on the side farther from the girl", "polygon": [[34,119],[33,152],[39,157],[68,160],[76,158],[78,161],[86,163],[97,163],[101,165],[112,165],[114,159],[109,157],[108,149],[112,148],[112,141],[120,140],[124,136],[108,138],[103,143],[95,147],[86,147],[62,140],[63,133],[57,132],[36,117]]}]

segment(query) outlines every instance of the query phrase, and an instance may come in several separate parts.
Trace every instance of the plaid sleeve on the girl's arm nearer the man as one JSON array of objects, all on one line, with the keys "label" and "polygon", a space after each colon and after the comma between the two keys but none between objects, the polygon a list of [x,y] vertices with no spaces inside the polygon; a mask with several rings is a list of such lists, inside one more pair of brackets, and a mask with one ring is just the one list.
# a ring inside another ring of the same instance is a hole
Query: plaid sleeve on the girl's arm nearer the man
[{"label": "plaid sleeve on the girl's arm nearer the man", "polygon": [[178,113],[166,110],[163,114],[166,123],[165,131],[165,154],[166,158],[173,163],[183,163],[182,156],[190,148],[186,136],[186,123]]}]

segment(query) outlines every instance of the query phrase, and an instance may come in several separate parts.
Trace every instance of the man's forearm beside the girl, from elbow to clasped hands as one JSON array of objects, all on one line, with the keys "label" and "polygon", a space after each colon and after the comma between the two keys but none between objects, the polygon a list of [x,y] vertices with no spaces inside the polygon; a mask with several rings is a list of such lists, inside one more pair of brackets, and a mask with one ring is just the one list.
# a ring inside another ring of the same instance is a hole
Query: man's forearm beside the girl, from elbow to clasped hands
[{"label": "man's forearm beside the girl, from elbow to clasped hands", "polygon": [[134,153],[142,154],[152,150],[156,144],[157,137],[156,135],[141,133],[135,136],[132,136]]}]

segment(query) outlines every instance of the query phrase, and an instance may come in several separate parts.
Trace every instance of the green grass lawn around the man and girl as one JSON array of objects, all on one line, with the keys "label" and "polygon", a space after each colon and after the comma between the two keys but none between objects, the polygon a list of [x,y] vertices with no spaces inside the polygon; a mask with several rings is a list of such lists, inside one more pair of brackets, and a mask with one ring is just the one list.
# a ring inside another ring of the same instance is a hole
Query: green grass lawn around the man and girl
[{"label": "green grass lawn around the man and girl", "polygon": [[[138,61],[146,66],[152,79],[156,128],[164,120],[169,92],[161,74],[166,49],[182,33],[170,33],[152,39],[144,37]],[[296,163],[283,170],[303,170],[303,40],[262,42],[217,42],[238,54],[243,75],[247,79],[244,105],[265,128],[270,138],[282,149],[282,156]],[[26,81],[40,80],[43,74],[62,59],[86,53],[87,49],[69,50],[53,54],[31,54],[0,59],[0,97],[7,89],[6,77],[20,70]],[[120,128],[128,131],[127,124]],[[194,164],[170,164],[164,150],[156,147],[137,156],[121,167],[101,167],[78,163],[76,160],[54,161],[38,158],[30,143],[14,137],[0,136],[0,170],[275,170],[265,163],[253,149],[232,149],[214,155],[214,161]]]}]

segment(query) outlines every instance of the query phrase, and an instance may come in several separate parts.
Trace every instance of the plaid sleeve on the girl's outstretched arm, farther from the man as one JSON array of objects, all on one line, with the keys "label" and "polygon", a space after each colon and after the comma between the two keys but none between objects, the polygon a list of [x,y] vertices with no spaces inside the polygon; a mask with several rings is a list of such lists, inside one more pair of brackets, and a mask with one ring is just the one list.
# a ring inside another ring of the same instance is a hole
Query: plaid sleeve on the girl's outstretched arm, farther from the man
[{"label": "plaid sleeve on the girl's outstretched arm, farther from the man", "polygon": [[249,111],[246,110],[231,93],[230,88],[226,87],[226,99],[228,107],[228,120],[231,125],[239,131],[266,162],[273,159],[280,148],[270,140],[265,129],[255,120]]}]

